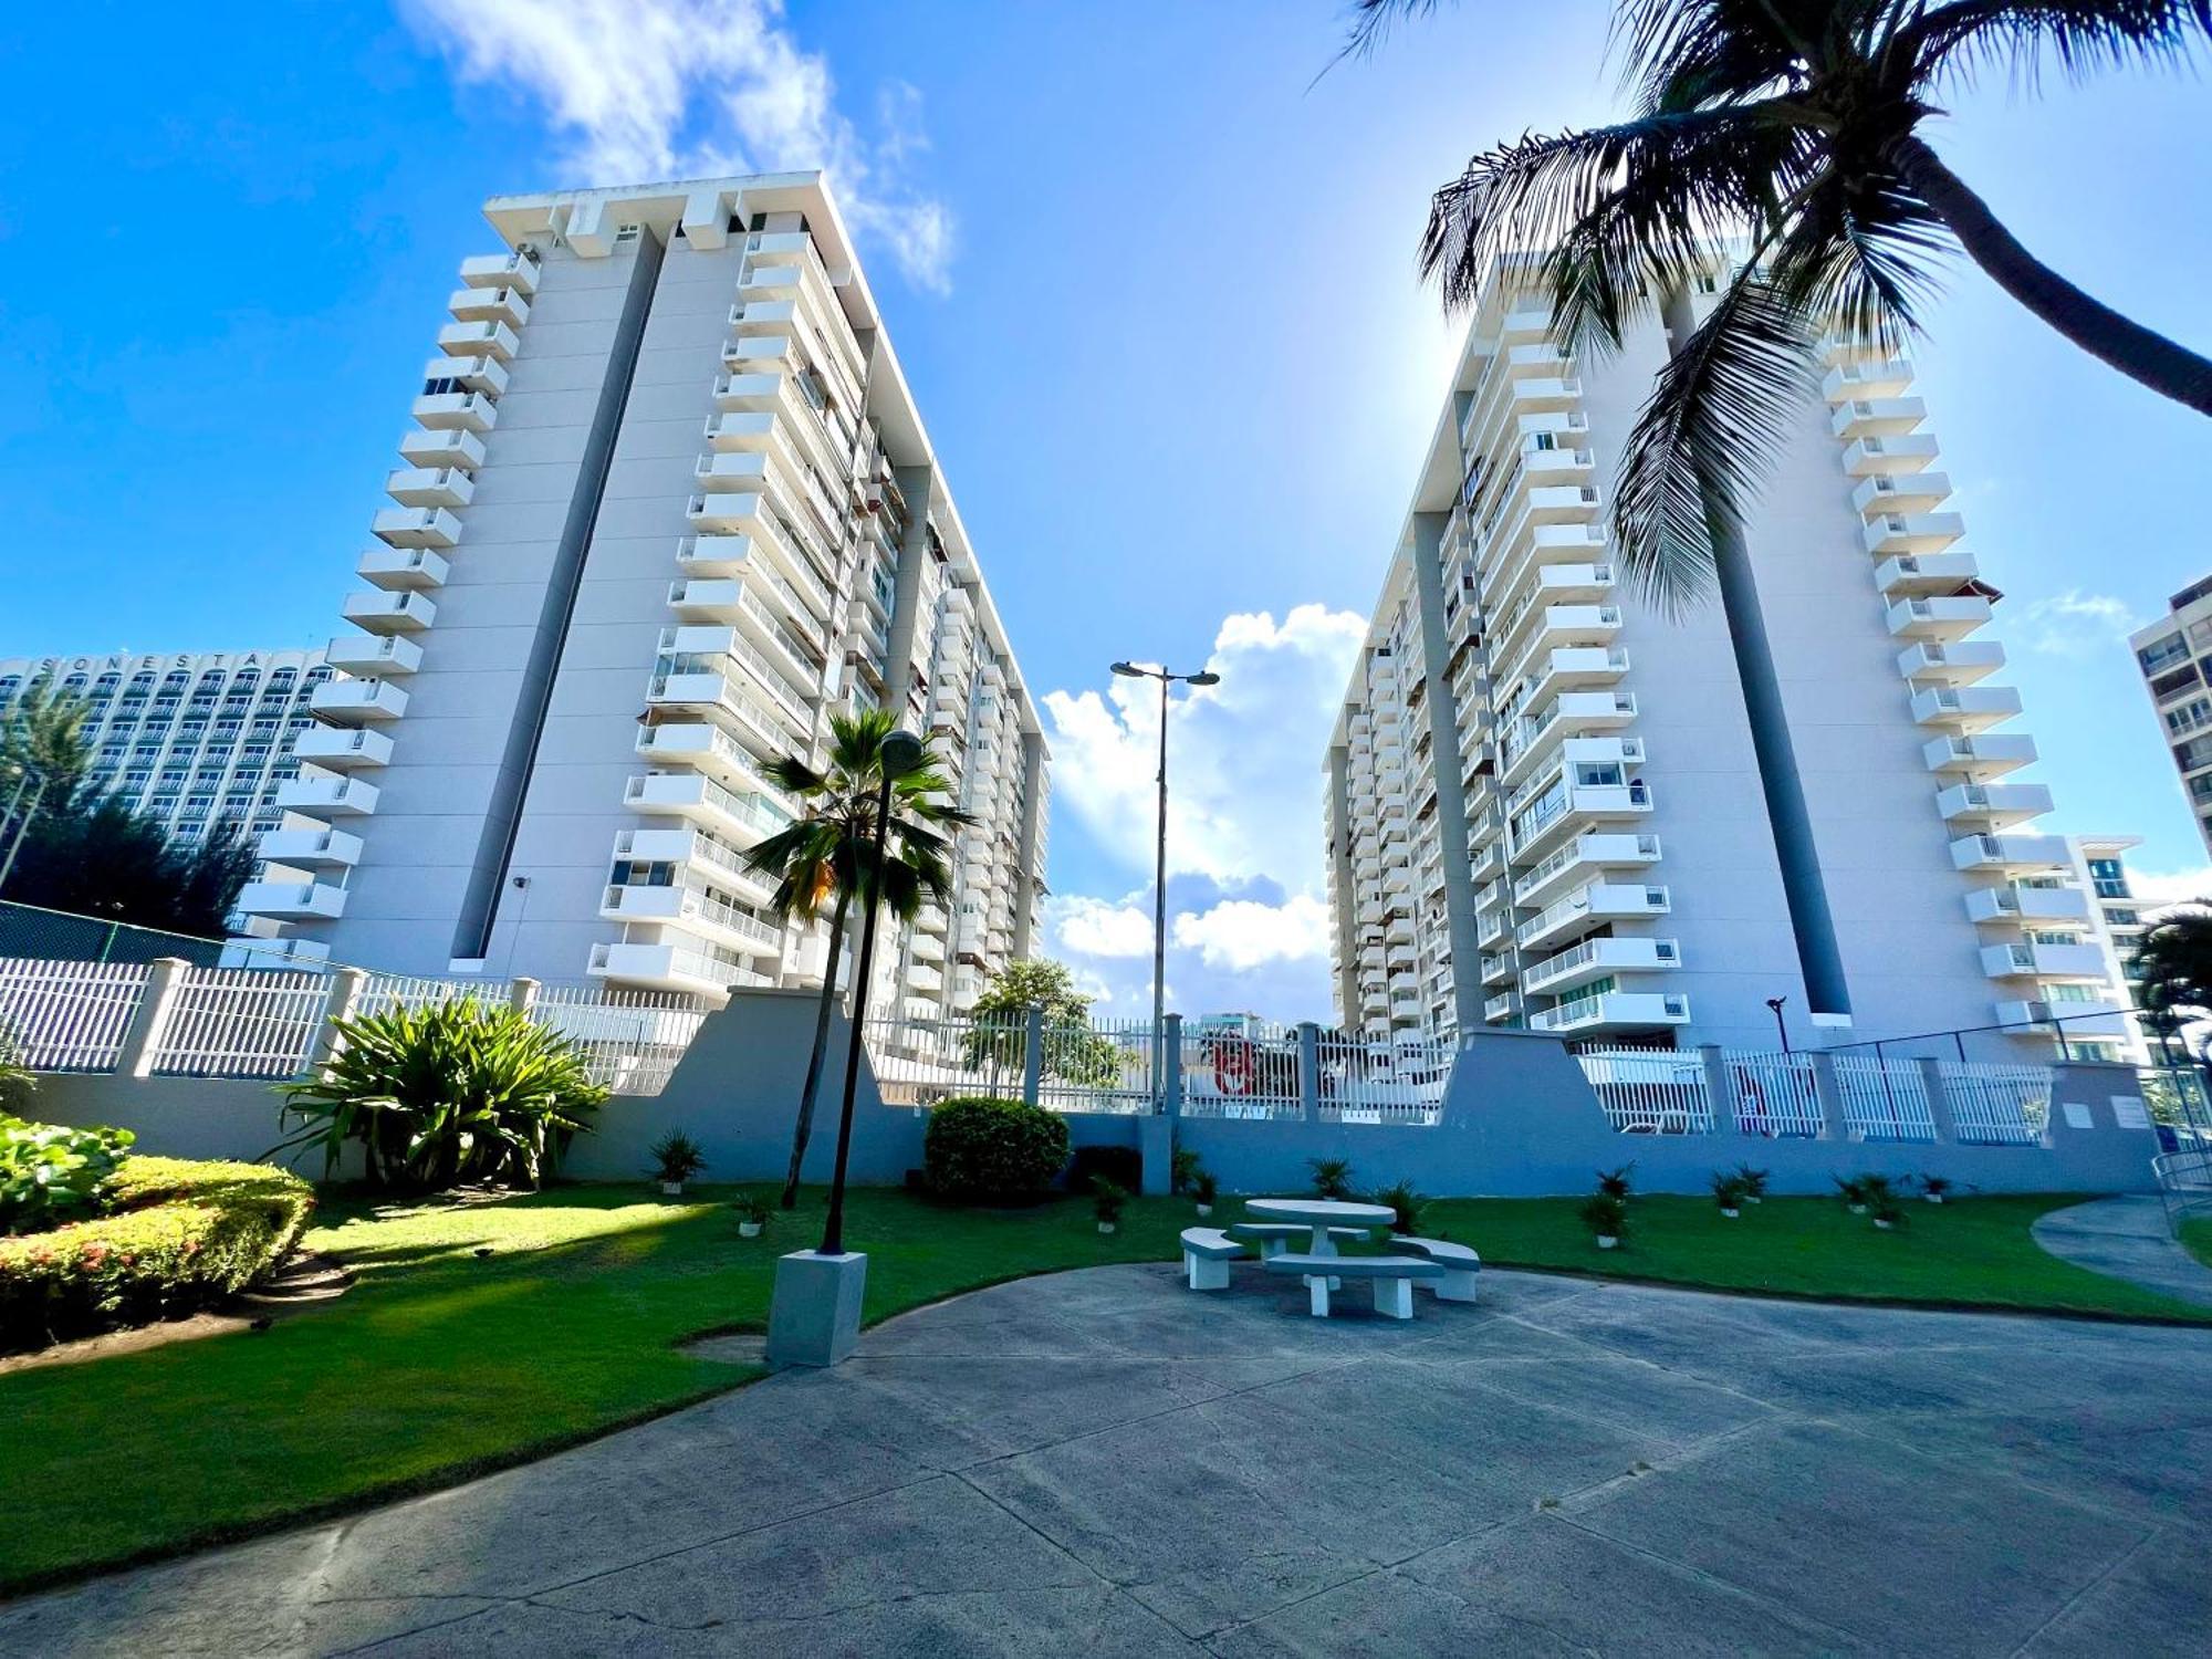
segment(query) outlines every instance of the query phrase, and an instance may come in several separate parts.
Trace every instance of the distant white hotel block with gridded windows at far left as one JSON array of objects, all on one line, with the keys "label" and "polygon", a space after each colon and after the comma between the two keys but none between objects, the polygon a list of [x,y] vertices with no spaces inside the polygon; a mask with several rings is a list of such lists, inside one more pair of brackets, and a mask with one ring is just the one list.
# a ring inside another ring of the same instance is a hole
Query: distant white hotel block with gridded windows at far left
[{"label": "distant white hotel block with gridded windows at far left", "polygon": [[0,657],[0,712],[51,690],[84,699],[88,787],[157,818],[173,841],[215,825],[276,830],[296,805],[292,739],[332,677],[321,650]]}]

